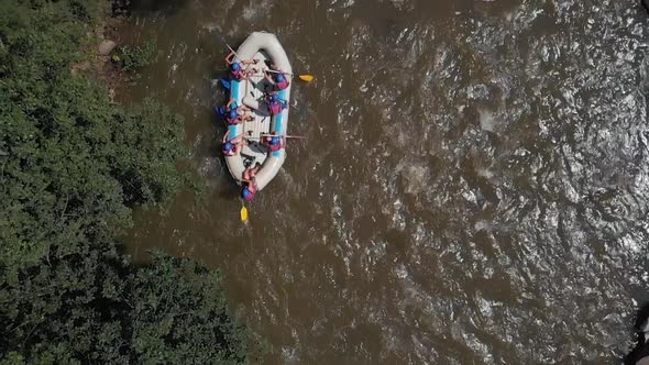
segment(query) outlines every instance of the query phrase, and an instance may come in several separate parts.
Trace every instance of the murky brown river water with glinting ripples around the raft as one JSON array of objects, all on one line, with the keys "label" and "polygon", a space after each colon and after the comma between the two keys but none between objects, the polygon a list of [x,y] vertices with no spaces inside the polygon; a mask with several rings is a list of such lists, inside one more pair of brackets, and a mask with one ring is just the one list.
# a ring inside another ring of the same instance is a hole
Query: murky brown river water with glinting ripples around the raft
[{"label": "murky brown river water with glinting ripples around the raft", "polygon": [[[649,299],[649,20],[632,0],[144,1],[122,98],[185,117],[202,203],[128,239],[220,267],[267,364],[606,364]],[[239,220],[224,37],[297,74],[283,170]]]}]

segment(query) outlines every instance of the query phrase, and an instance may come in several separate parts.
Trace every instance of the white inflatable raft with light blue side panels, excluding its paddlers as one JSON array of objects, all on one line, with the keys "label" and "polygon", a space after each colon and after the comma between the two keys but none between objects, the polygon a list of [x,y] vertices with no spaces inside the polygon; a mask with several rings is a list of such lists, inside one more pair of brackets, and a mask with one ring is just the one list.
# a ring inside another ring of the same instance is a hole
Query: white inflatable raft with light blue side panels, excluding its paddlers
[{"label": "white inflatable raft with light blue side panels, excluding its paddlers", "polygon": [[[271,117],[268,108],[264,101],[264,88],[267,81],[264,79],[263,69],[268,69],[268,64],[274,64],[278,69],[293,74],[290,63],[286,56],[286,52],[279,44],[279,41],[274,34],[266,32],[252,33],[237,49],[237,55],[242,59],[258,59],[256,65],[249,65],[245,67],[253,67],[260,70],[254,76],[246,80],[238,81],[231,80],[230,97],[237,101],[238,104],[244,104],[252,109],[254,120],[245,121],[241,124],[229,125],[230,139],[233,139],[241,133],[248,139],[248,146],[244,146],[239,155],[226,156],[226,163],[232,177],[238,184],[241,184],[243,170],[248,166],[254,167],[255,164],[261,164],[261,168],[256,174],[256,184],[258,190],[262,190],[271,180],[277,175],[284,159],[286,158],[286,151],[284,148],[275,152],[270,152],[268,148],[262,145],[262,134],[275,132],[277,135],[286,135],[286,128],[288,126],[288,103],[290,100],[290,86],[277,95],[280,99],[286,100],[287,108],[279,114]],[[240,60],[237,57],[237,60]],[[293,79],[288,77],[293,84]]]}]

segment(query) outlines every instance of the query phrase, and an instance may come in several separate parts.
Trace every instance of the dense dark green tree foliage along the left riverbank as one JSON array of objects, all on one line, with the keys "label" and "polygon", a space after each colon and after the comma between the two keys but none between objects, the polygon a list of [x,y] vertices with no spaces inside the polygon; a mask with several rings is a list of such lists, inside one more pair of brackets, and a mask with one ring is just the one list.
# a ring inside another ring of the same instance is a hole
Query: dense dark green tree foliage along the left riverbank
[{"label": "dense dark green tree foliage along the left riverbank", "polygon": [[70,74],[105,5],[0,1],[0,362],[244,362],[218,273],[118,252],[131,209],[183,187],[186,151],[168,109]]}]

